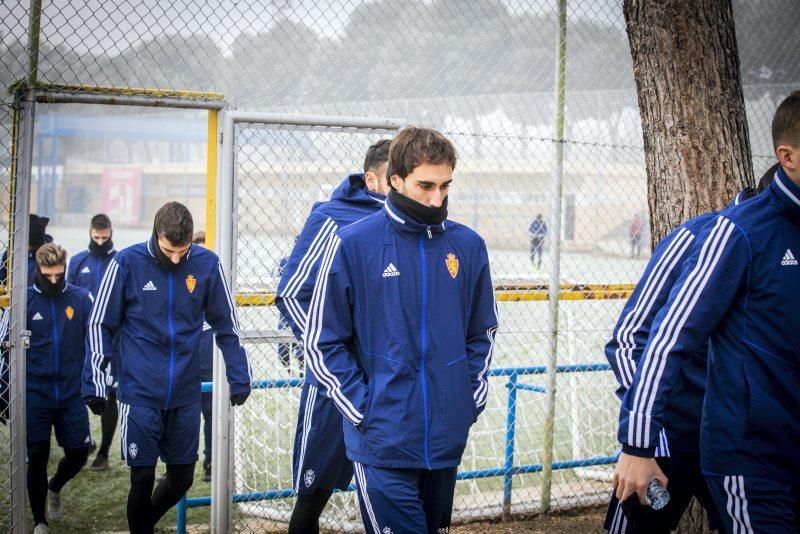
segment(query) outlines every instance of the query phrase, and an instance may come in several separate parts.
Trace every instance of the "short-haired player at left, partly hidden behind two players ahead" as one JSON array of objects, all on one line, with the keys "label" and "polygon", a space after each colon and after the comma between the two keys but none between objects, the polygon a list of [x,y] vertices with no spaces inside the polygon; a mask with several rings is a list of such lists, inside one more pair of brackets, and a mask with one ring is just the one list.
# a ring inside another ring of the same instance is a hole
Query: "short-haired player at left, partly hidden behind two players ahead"
[{"label": "short-haired player at left, partly hidden behind two players ahead", "polygon": [[[82,287],[92,294],[97,295],[100,289],[100,280],[103,279],[111,259],[117,253],[114,250],[114,242],[111,240],[113,229],[111,219],[104,213],[98,213],[92,217],[89,223],[89,248],[75,254],[69,262],[67,269],[67,283]],[[117,429],[117,396],[116,382],[117,376],[117,345],[118,338],[115,338],[110,349],[109,365],[106,377],[110,380],[108,384],[108,399],[106,409],[100,417],[100,424],[103,432],[103,439],[97,451],[94,461],[89,465],[92,471],[105,471],[108,469],[108,451],[111,448],[111,440],[114,438],[114,431]]]}]

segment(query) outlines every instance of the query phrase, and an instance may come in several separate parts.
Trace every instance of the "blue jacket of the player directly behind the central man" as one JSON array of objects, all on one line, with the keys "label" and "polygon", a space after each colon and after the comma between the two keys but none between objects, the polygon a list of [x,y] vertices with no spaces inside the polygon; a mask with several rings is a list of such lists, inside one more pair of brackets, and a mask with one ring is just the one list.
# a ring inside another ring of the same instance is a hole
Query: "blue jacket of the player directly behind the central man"
[{"label": "blue jacket of the player directly behind the central man", "polygon": [[385,201],[386,197],[364,187],[363,174],[351,174],[333,191],[330,201],[318,202],[311,208],[297,243],[282,267],[275,295],[275,304],[288,319],[298,340],[302,340],[306,327],[311,293],[326,241],[338,228],[380,210]]}]

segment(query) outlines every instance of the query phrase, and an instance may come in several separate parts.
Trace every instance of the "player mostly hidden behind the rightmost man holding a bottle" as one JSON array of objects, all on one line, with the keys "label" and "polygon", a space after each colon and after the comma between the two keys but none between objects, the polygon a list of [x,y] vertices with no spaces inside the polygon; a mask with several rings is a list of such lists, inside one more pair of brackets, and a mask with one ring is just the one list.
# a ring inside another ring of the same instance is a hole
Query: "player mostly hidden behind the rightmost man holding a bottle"
[{"label": "player mostly hidden behind the rightmost man holding a bottle", "polygon": [[[772,180],[776,168],[777,165],[767,171],[758,189],[745,189],[732,204],[744,202],[763,191]],[[692,252],[698,233],[716,215],[716,212],[698,215],[664,237],[625,303],[614,327],[613,337],[605,347],[606,359],[619,384],[616,393],[620,399],[633,380],[656,313],[666,303],[683,263]],[[681,369],[677,393],[668,407],[664,430],[656,445],[654,456],[669,479],[669,504],[656,511],[641,506],[635,496],[620,503],[612,495],[605,521],[605,528],[612,534],[666,533],[675,530],[692,496],[706,509],[710,528],[717,530],[721,526],[708,486],[700,472],[700,414],[705,395],[707,353],[707,347],[703,347]]]}]

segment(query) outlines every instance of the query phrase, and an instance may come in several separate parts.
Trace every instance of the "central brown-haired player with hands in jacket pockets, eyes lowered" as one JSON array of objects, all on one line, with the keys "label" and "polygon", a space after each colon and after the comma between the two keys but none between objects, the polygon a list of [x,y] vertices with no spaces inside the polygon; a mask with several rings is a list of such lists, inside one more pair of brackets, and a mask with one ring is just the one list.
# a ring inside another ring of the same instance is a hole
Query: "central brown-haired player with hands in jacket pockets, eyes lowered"
[{"label": "central brown-haired player with hands in jacket pockets, eyes lowered", "polygon": [[368,533],[446,532],[456,468],[483,411],[497,314],[486,245],[446,220],[456,151],[405,128],[381,212],[322,255],[309,368],[344,416]]}]

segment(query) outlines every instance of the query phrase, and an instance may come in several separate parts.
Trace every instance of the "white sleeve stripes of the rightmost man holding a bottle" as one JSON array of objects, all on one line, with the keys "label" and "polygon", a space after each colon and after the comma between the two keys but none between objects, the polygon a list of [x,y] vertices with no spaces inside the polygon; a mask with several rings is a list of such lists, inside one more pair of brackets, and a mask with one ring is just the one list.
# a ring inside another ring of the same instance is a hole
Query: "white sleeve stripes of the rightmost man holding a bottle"
[{"label": "white sleeve stripes of the rightmost man holding a bottle", "polygon": [[728,219],[717,218],[714,229],[703,243],[697,264],[680,288],[658,332],[647,345],[647,354],[643,358],[642,381],[636,390],[628,421],[629,443],[635,447],[646,448],[650,445],[650,410],[666,365],[667,354],[675,345],[681,328],[714,272],[733,229],[734,226]]}]

